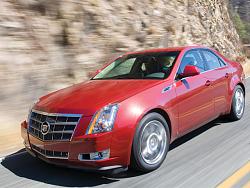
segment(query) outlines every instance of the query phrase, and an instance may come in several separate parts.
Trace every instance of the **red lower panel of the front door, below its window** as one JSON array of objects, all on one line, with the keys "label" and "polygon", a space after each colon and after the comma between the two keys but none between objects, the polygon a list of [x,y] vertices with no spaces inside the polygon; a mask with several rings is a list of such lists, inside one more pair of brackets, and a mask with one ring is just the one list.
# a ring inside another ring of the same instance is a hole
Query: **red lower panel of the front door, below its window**
[{"label": "red lower panel of the front door, below its window", "polygon": [[205,86],[206,74],[188,77],[176,84],[181,135],[190,132],[194,125],[214,118],[212,88]]}]

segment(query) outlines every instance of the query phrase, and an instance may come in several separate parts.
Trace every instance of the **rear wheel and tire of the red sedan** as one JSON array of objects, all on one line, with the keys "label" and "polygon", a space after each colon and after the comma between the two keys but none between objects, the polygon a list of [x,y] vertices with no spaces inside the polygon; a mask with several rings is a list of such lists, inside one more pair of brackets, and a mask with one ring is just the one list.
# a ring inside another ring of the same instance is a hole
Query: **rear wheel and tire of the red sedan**
[{"label": "rear wheel and tire of the red sedan", "polygon": [[245,93],[241,86],[237,85],[234,89],[231,111],[229,119],[232,121],[240,120],[245,110]]}]

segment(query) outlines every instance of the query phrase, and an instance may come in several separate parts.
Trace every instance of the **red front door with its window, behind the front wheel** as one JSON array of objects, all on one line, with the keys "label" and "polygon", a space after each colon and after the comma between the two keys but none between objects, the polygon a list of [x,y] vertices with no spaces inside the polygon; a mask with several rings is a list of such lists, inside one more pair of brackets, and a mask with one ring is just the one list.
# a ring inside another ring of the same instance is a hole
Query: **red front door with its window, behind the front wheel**
[{"label": "red front door with its window, behind the front wheel", "polygon": [[[198,67],[201,74],[178,79],[178,75],[183,73],[187,65]],[[185,53],[177,73],[175,86],[180,135],[190,132],[214,117],[212,85],[207,79],[205,62],[199,50]]]}]

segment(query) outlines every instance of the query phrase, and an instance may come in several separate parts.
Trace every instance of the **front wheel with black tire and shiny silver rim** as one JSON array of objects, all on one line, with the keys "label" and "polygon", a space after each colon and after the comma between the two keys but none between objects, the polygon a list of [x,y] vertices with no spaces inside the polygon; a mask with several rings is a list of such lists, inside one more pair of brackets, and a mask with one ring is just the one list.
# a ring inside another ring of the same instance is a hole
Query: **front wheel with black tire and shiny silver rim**
[{"label": "front wheel with black tire and shiny silver rim", "polygon": [[141,172],[159,168],[166,158],[169,142],[166,120],[158,113],[147,114],[140,121],[134,135],[131,167]]}]

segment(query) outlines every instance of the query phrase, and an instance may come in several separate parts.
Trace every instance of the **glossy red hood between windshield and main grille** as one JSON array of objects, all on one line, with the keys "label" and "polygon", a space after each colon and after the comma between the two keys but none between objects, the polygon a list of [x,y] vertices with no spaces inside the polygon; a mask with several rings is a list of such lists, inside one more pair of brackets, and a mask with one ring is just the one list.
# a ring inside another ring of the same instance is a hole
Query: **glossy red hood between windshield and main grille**
[{"label": "glossy red hood between windshield and main grille", "polygon": [[107,104],[121,102],[160,80],[89,80],[41,97],[34,109],[51,113],[93,115]]}]

